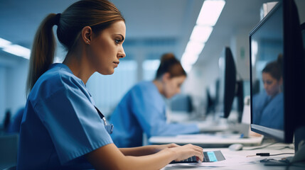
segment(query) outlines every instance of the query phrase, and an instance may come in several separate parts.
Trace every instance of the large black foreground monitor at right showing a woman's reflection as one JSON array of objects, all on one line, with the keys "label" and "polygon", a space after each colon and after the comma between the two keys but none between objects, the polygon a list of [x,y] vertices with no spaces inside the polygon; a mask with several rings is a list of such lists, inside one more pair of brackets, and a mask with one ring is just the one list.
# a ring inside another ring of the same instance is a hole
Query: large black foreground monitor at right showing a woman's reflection
[{"label": "large black foreground monitor at right showing a woman's reflection", "polygon": [[[294,137],[296,152],[305,142],[304,68],[296,4],[280,1],[250,32],[250,126],[279,142],[290,143]],[[257,79],[261,84],[255,93]]]}]

